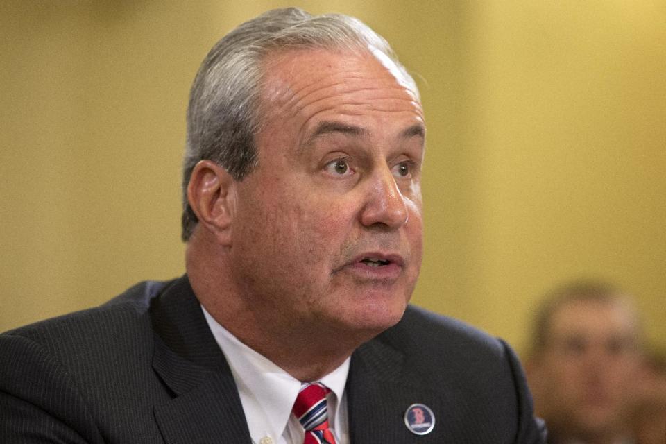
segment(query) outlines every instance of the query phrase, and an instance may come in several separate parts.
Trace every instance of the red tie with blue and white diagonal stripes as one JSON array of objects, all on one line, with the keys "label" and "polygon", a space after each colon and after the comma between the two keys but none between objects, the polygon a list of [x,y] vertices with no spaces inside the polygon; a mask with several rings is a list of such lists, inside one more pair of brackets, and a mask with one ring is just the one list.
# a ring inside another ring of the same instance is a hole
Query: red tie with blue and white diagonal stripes
[{"label": "red tie with blue and white diagonal stripes", "polygon": [[330,389],[319,383],[303,383],[293,404],[293,414],[305,429],[303,444],[335,444],[328,427],[326,394]]}]

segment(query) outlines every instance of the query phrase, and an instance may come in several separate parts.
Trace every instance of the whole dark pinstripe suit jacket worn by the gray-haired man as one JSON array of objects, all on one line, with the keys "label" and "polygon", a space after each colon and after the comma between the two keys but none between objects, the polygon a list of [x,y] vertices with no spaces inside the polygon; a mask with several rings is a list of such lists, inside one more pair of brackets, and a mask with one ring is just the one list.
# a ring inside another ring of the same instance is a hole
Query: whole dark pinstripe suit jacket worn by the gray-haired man
[{"label": "whole dark pinstripe suit jacket worn by the gray-haired man", "polygon": [[[509,347],[416,307],[354,352],[346,390],[352,443],[545,442]],[[250,443],[187,276],[0,335],[0,443],[33,442]]]}]

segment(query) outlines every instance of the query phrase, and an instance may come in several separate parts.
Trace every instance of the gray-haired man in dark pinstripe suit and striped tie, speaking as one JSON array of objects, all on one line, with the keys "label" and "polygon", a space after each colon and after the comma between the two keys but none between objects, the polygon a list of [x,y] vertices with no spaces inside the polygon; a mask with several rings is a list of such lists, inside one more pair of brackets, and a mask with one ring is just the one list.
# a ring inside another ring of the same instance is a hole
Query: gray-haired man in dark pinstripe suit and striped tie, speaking
[{"label": "gray-haired man in dark pinstripe suit and striped tie, speaking", "polygon": [[3,336],[0,438],[543,442],[506,344],[407,307],[424,140],[416,85],[357,19],[239,26],[191,91],[187,274]]}]

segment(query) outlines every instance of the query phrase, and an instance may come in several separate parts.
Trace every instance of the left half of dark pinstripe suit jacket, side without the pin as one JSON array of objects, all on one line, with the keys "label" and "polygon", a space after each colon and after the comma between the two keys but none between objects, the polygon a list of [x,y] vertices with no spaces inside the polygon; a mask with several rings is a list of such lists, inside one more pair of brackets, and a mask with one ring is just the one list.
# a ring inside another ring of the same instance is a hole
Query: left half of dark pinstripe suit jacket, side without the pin
[{"label": "left half of dark pinstripe suit jacket, side without the pin", "polygon": [[0,443],[249,442],[187,278],[162,287],[1,335]]}]

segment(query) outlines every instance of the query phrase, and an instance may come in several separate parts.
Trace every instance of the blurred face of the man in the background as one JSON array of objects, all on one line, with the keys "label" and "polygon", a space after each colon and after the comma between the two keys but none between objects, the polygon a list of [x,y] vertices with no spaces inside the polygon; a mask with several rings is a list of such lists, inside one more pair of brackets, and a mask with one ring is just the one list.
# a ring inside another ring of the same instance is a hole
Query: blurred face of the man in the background
[{"label": "blurred face of the man in the background", "polygon": [[620,302],[560,307],[535,375],[537,407],[579,437],[622,427],[639,365],[637,336],[633,313]]}]

